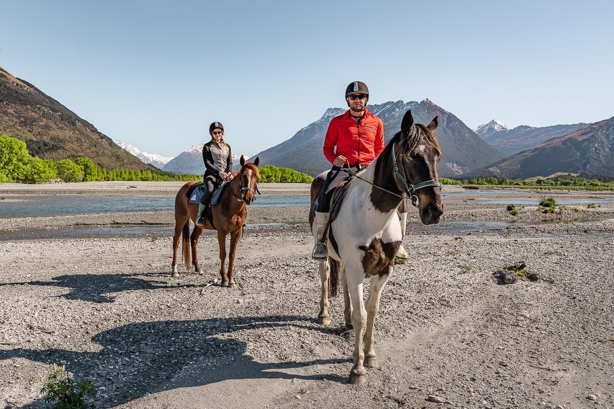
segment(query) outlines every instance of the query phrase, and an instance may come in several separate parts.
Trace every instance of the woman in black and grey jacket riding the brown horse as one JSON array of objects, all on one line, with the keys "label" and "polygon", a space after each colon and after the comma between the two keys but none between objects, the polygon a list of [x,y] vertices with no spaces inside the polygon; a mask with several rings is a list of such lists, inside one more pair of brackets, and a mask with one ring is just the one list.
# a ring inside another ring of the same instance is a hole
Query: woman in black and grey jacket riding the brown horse
[{"label": "woman in black and grey jacket riding the brown horse", "polygon": [[224,180],[232,179],[232,154],[230,145],[223,140],[224,127],[220,122],[209,125],[211,140],[203,146],[204,175],[203,182],[206,187],[198,205],[198,218],[196,224],[204,225],[203,211],[211,201],[213,191]]}]

